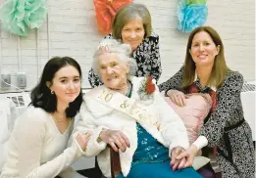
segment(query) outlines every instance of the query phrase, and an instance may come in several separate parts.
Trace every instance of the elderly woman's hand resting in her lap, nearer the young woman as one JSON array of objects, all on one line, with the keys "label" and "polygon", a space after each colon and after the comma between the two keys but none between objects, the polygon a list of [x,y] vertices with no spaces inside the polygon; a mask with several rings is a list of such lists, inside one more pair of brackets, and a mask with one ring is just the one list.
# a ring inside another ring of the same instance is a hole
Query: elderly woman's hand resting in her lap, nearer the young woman
[{"label": "elderly woman's hand resting in her lap, nearer the young woman", "polygon": [[115,152],[118,152],[119,149],[126,152],[130,146],[128,137],[120,130],[103,129],[99,138],[109,144]]}]

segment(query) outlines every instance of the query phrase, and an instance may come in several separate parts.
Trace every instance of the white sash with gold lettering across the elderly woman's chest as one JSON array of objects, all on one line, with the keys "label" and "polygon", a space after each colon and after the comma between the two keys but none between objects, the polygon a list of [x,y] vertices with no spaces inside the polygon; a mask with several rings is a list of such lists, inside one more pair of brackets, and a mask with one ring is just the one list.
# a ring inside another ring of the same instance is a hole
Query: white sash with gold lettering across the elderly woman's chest
[{"label": "white sash with gold lettering across the elderly woman's chest", "polygon": [[94,89],[94,91],[89,93],[89,95],[93,96],[93,99],[101,104],[109,106],[115,110],[122,111],[134,118],[136,121],[147,122],[159,129],[160,120],[158,116],[137,106],[136,100],[132,98],[129,99],[128,97],[105,86]]}]

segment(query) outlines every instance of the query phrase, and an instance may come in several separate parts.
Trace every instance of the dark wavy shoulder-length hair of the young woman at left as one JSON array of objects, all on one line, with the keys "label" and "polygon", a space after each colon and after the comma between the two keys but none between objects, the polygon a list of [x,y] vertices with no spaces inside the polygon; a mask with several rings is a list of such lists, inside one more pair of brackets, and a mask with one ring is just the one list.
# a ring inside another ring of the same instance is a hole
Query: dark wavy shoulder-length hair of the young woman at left
[{"label": "dark wavy shoulder-length hair of the young woman at left", "polygon": [[[29,105],[35,108],[41,108],[47,112],[57,111],[57,98],[55,94],[51,94],[51,90],[46,83],[52,83],[55,73],[62,67],[73,66],[76,67],[81,78],[81,69],[77,61],[70,57],[54,57],[47,62],[43,68],[43,72],[39,83],[32,89],[30,97],[31,103]],[[76,100],[69,104],[66,109],[67,117],[74,117],[80,109],[82,102],[82,93],[77,96]]]}]

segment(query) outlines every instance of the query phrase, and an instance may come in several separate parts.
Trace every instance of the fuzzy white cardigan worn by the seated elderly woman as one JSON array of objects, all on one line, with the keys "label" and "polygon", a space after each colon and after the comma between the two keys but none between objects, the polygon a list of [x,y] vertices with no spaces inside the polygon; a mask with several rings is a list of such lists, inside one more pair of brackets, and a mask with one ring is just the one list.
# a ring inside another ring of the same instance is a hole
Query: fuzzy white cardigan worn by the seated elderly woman
[{"label": "fuzzy white cardigan worn by the seated elderly woman", "polygon": [[[141,84],[143,78],[132,77],[132,95],[131,98],[139,100],[137,90]],[[104,88],[105,86],[100,86]],[[96,88],[98,89],[98,88]],[[91,131],[92,137],[88,142],[86,153],[84,156],[97,156],[99,167],[106,177],[111,177],[110,172],[110,154],[109,148],[106,147],[106,143],[97,142],[102,128],[121,130],[128,136],[130,142],[130,148],[125,153],[120,152],[122,172],[125,176],[128,175],[132,156],[137,149],[137,131],[136,121],[128,114],[114,110],[113,108],[101,104],[93,99],[91,92],[88,92],[83,97],[84,102],[80,108],[81,118],[77,122],[78,132]],[[139,103],[140,107],[148,111],[154,111],[155,114],[161,118],[160,130],[156,126],[147,122],[138,121],[147,132],[149,132],[155,139],[157,139],[164,146],[169,148],[171,153],[175,147],[181,147],[187,149],[188,138],[187,132],[183,122],[179,118],[178,114],[173,111],[160,95],[158,89],[154,92],[153,103],[145,104]],[[74,137],[77,133],[74,134]]]}]

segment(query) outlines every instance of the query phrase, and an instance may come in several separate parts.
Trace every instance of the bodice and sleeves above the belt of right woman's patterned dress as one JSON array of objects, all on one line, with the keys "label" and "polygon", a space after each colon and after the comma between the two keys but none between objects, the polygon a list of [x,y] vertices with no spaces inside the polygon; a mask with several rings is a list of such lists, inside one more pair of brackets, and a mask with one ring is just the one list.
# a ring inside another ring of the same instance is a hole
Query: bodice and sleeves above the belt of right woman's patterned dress
[{"label": "bodice and sleeves above the belt of right woman's patterned dress", "polygon": [[[180,88],[182,83],[182,73],[183,67],[181,67],[169,80],[160,84],[159,90],[167,91],[173,89],[182,91],[183,93],[188,93],[188,90]],[[198,85],[198,82],[195,81],[194,84]],[[215,111],[212,112],[209,122],[201,128],[201,135],[206,136],[210,147],[214,147],[219,144],[219,141],[223,136],[224,127],[229,127],[243,118],[240,101],[242,84],[242,75],[238,72],[230,71],[227,74],[224,84],[217,89],[217,107]]]}]

